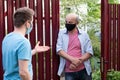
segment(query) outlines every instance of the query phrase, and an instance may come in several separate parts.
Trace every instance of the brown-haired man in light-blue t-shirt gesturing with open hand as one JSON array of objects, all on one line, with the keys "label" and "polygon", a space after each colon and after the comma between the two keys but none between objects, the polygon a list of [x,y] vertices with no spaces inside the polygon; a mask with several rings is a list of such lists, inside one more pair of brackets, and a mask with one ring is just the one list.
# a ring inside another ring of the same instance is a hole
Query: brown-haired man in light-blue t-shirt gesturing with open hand
[{"label": "brown-haired man in light-blue t-shirt gesturing with open hand", "polygon": [[48,46],[39,46],[33,50],[25,34],[33,28],[34,11],[27,7],[16,10],[13,15],[14,31],[5,36],[2,42],[2,60],[4,80],[32,80],[32,55],[49,50]]}]

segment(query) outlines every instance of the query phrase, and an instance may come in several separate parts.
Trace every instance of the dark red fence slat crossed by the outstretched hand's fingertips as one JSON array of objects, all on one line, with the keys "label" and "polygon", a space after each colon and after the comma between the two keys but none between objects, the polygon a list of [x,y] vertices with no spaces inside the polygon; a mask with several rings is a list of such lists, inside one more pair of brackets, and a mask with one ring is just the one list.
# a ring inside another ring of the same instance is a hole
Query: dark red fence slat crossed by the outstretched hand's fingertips
[{"label": "dark red fence slat crossed by the outstretched hand's fingertips", "polygon": [[[45,44],[50,45],[50,0],[44,0],[44,11],[45,11]],[[49,50],[45,54],[46,80],[51,79],[51,58],[50,57],[51,57],[51,52]]]}]

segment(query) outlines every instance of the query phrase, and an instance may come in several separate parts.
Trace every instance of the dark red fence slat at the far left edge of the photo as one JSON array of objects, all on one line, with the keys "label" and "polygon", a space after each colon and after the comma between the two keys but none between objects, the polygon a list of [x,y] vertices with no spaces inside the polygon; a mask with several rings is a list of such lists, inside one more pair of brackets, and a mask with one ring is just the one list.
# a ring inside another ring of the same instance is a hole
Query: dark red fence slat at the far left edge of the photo
[{"label": "dark red fence slat at the far left edge of the photo", "polygon": [[3,80],[2,69],[2,40],[5,36],[5,22],[4,22],[4,0],[0,0],[0,79]]}]

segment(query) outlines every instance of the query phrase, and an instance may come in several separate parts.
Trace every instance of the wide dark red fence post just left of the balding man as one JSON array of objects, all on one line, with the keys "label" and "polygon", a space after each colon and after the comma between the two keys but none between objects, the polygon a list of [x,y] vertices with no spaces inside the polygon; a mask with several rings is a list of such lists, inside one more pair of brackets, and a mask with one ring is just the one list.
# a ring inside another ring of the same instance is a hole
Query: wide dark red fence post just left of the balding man
[{"label": "wide dark red fence post just left of the balding man", "polygon": [[[57,76],[58,65],[59,65],[59,56],[56,54],[56,42],[57,34],[59,31],[59,0],[52,0],[52,77],[53,80],[60,80]],[[57,18],[56,18],[57,17]],[[56,22],[57,21],[57,22]]]}]

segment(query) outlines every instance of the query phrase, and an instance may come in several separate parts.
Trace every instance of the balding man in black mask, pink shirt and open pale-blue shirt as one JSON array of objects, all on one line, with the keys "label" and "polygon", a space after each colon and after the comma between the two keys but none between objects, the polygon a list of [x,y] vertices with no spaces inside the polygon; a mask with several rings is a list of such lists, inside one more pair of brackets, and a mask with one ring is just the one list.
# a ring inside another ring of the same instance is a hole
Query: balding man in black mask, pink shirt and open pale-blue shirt
[{"label": "balding man in black mask, pink shirt and open pale-blue shirt", "polygon": [[66,29],[58,34],[56,44],[60,56],[58,75],[65,73],[65,80],[92,80],[89,58],[93,55],[92,45],[87,33],[78,29],[78,15],[66,16]]}]

